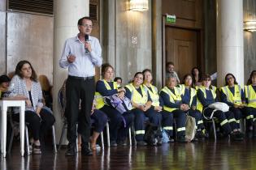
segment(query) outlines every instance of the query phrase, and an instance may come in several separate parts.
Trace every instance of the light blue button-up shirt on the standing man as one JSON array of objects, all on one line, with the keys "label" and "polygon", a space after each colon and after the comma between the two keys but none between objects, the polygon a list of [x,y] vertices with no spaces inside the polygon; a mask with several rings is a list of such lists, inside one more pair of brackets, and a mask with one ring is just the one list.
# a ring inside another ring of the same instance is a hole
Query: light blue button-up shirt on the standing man
[{"label": "light blue button-up shirt on the standing man", "polygon": [[[102,48],[97,38],[89,36],[91,53],[85,50],[85,45],[78,36],[66,40],[63,54],[59,59],[59,66],[68,68],[68,75],[76,77],[89,77],[95,74],[94,66],[102,66]],[[75,62],[67,62],[69,55],[76,56]]]}]

